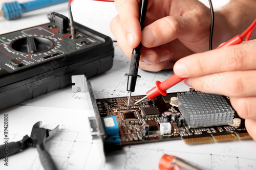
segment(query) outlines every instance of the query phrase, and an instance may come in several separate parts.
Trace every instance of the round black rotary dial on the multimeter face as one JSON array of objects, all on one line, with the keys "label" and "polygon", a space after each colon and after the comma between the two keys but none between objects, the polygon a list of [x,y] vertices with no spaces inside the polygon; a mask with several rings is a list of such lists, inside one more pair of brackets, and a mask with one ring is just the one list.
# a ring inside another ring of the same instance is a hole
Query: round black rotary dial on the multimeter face
[{"label": "round black rotary dial on the multimeter face", "polygon": [[10,48],[19,53],[31,54],[49,51],[54,44],[52,40],[44,37],[25,37],[12,41]]}]

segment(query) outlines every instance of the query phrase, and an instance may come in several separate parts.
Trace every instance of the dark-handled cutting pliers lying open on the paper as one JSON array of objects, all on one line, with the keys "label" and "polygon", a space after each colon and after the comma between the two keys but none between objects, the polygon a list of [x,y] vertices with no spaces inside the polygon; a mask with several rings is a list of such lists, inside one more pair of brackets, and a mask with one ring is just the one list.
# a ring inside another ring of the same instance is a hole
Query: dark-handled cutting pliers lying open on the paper
[{"label": "dark-handled cutting pliers lying open on the paper", "polygon": [[[22,140],[8,143],[8,156],[21,152],[29,147],[36,147],[39,158],[44,169],[57,169],[50,154],[45,150],[45,143],[55,136],[59,130],[59,125],[53,129],[41,128],[42,122],[37,122],[31,131],[30,137],[24,136]],[[0,159],[5,157],[5,144],[0,146]]]}]

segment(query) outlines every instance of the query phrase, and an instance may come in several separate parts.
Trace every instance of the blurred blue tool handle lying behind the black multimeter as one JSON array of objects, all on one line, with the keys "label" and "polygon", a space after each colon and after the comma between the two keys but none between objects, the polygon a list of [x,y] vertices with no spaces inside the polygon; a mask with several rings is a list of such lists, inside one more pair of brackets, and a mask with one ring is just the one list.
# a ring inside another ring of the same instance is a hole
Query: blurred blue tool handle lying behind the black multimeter
[{"label": "blurred blue tool handle lying behind the black multimeter", "polygon": [[4,16],[7,20],[16,19],[22,16],[24,12],[37,10],[40,8],[49,7],[61,3],[66,3],[69,0],[37,0],[19,4],[18,2],[4,3],[0,10],[0,17]]}]

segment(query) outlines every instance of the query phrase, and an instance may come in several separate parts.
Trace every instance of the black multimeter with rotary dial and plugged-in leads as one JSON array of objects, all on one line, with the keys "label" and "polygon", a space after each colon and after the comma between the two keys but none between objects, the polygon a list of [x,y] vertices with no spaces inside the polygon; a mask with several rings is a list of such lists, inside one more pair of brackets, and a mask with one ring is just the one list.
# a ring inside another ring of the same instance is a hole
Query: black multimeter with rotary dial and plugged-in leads
[{"label": "black multimeter with rotary dial and plugged-in leads", "polygon": [[110,37],[69,19],[48,15],[50,23],[0,35],[0,110],[71,84],[72,75],[87,78],[111,69]]}]

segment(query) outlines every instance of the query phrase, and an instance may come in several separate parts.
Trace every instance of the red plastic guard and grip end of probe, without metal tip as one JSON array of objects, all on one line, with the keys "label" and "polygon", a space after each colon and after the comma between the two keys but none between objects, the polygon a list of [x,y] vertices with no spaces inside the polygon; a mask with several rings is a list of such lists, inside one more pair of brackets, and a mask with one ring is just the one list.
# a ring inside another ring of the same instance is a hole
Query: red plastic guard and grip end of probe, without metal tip
[{"label": "red plastic guard and grip end of probe, without metal tip", "polygon": [[156,81],[156,87],[152,88],[150,91],[147,91],[146,96],[148,99],[153,99],[156,96],[162,94],[166,95],[166,90],[170,87],[176,85],[177,83],[181,82],[185,78],[180,78],[176,75],[173,75],[163,81],[162,83],[160,81]]}]

